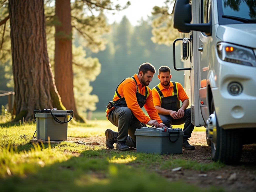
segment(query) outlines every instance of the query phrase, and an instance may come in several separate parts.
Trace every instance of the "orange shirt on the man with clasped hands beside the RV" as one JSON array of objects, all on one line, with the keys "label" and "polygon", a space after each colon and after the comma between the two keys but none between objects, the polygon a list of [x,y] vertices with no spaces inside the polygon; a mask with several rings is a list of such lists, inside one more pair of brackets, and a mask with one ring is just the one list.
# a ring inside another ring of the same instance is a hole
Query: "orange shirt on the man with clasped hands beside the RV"
[{"label": "orange shirt on the man with clasped hands beside the RV", "polygon": [[[178,92],[178,99],[180,101],[184,101],[185,99],[188,99],[188,96],[182,87],[182,84],[179,82],[175,82],[176,87],[177,87],[177,92]],[[173,83],[170,81],[169,88],[165,89],[161,83],[157,85],[159,87],[160,91],[163,93],[164,97],[169,97],[173,95]],[[155,106],[161,106],[161,100],[158,91],[155,89],[155,87],[152,89],[152,94],[153,94],[153,102]]]}]

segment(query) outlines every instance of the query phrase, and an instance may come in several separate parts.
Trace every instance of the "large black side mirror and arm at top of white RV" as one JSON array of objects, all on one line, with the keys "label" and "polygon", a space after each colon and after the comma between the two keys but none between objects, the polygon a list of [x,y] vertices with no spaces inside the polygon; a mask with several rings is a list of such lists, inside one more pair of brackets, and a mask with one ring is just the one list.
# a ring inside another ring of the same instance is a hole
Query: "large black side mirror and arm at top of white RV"
[{"label": "large black side mirror and arm at top of white RV", "polygon": [[192,20],[191,5],[189,0],[176,0],[173,15],[173,27],[183,33],[191,30],[211,34],[211,23],[190,24]]}]

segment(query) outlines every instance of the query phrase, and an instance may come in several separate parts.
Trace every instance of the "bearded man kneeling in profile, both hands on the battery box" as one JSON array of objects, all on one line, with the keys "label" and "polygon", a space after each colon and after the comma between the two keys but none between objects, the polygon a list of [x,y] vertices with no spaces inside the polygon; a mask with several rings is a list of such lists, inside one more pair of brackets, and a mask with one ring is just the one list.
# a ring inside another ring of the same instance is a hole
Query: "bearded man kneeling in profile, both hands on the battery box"
[{"label": "bearded man kneeling in profile, both hands on the battery box", "polygon": [[[153,65],[143,63],[138,74],[124,79],[116,88],[113,101],[107,106],[106,116],[118,127],[118,132],[111,129],[105,131],[106,147],[113,149],[113,144],[116,143],[116,150],[128,151],[129,147],[136,148],[136,129],[145,127],[146,124],[164,126],[154,107],[152,91],[147,87],[155,72]],[[143,106],[149,117],[142,111]]]}]

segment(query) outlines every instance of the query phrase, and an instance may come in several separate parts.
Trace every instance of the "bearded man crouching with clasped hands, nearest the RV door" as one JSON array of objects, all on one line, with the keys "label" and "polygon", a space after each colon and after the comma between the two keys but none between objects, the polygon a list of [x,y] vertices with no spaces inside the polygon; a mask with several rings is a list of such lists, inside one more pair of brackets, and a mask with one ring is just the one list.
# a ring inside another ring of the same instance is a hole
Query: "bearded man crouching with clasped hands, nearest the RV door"
[{"label": "bearded man crouching with clasped hands, nearest the RV door", "polygon": [[[188,143],[188,138],[194,130],[191,123],[188,96],[179,82],[172,82],[171,70],[167,66],[158,69],[160,83],[152,89],[153,102],[163,123],[170,125],[184,124],[183,148],[195,150],[195,146]],[[182,106],[180,107],[180,101]]]}]

